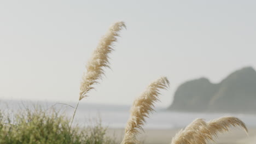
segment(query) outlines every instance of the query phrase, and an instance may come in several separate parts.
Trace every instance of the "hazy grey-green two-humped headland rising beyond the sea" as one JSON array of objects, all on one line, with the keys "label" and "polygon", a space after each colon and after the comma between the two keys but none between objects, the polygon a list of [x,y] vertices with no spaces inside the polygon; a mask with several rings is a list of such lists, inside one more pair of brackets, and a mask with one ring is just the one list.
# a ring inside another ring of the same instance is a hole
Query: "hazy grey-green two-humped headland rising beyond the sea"
[{"label": "hazy grey-green two-humped headland rising beyond the sea", "polygon": [[256,113],[256,71],[246,67],[217,84],[206,78],[185,82],[168,110]]}]

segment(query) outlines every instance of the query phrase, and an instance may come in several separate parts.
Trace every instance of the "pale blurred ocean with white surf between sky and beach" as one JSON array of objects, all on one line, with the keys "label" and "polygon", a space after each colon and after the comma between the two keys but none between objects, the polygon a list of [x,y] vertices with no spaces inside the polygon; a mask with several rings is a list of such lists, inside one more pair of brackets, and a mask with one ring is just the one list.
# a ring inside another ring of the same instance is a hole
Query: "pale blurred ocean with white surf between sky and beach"
[{"label": "pale blurred ocean with white surf between sky and beach", "polygon": [[[33,105],[41,105],[47,110],[49,107],[55,107],[60,112],[72,117],[74,109],[67,105],[56,104],[55,102],[45,101],[15,101],[0,100],[0,109],[2,111],[17,111],[25,109],[29,106],[33,109]],[[71,105],[75,106],[75,103]],[[80,103],[75,115],[74,123],[79,125],[94,125],[101,121],[101,124],[108,128],[124,128],[127,119],[130,117],[129,105],[102,105],[102,104],[86,104]],[[156,107],[155,112],[151,113],[147,118],[144,129],[172,129],[185,127],[196,118],[203,118],[206,121],[219,118],[222,116],[234,116],[240,118],[248,127],[256,127],[256,115],[248,115],[243,113],[191,113],[191,112],[174,112]]]}]

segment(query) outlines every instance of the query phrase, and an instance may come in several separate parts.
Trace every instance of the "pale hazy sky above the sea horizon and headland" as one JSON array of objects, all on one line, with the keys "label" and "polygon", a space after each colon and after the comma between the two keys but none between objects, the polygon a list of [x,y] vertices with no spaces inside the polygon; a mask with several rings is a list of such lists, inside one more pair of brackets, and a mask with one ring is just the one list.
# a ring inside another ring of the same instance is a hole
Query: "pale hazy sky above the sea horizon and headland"
[{"label": "pale hazy sky above the sea horizon and headland", "polygon": [[85,64],[115,21],[127,29],[84,103],[131,104],[167,76],[219,82],[256,68],[255,1],[0,1],[0,99],[77,101]]}]

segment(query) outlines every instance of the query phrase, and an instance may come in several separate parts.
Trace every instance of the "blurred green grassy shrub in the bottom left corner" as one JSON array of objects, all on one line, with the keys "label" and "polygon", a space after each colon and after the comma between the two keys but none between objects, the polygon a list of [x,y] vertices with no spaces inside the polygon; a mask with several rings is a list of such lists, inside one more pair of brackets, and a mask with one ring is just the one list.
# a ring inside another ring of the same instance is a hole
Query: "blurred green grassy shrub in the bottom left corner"
[{"label": "blurred green grassy shrub in the bottom left corner", "polygon": [[[42,109],[17,112],[13,116],[0,112],[0,144],[113,144],[100,122],[94,127],[69,129],[69,119],[59,111]],[[11,120],[13,119],[13,120]]]}]

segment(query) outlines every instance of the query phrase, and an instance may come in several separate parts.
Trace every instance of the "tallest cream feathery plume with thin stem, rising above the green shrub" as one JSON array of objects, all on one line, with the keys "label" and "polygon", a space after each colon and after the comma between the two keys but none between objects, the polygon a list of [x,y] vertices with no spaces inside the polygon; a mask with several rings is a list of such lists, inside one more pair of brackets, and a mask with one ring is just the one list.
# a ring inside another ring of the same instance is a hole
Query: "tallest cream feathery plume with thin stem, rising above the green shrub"
[{"label": "tallest cream feathery plume with thin stem, rising above the green shrub", "polygon": [[108,32],[101,38],[100,43],[92,53],[92,57],[89,59],[86,65],[86,73],[83,75],[83,80],[80,85],[80,95],[77,106],[75,106],[74,114],[71,120],[70,127],[72,125],[75,112],[77,111],[77,107],[79,101],[85,97],[94,84],[98,83],[98,80],[102,78],[104,75],[103,68],[109,68],[109,53],[113,51],[113,44],[117,41],[117,37],[119,36],[119,32],[121,29],[126,28],[125,23],[123,21],[116,22],[112,26],[110,26]]}]

